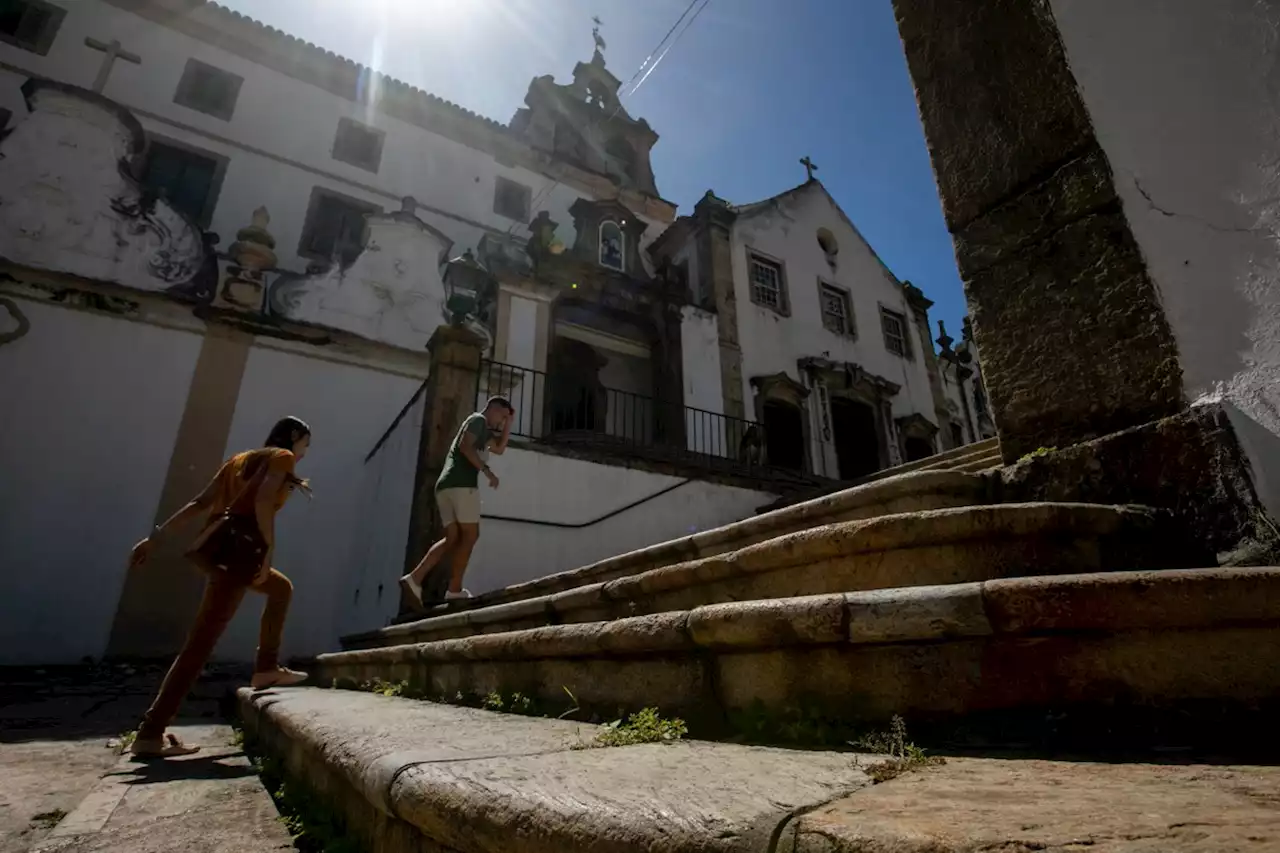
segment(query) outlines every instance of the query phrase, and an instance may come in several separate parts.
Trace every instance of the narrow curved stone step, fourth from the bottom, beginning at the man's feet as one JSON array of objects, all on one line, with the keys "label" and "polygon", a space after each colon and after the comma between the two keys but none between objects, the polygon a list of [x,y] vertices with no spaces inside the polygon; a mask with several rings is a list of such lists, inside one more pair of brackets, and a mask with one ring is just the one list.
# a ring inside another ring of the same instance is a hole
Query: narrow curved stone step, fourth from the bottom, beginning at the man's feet
[{"label": "narrow curved stone step, fourth from the bottom, beginning at the man's feet", "polygon": [[580,569],[512,584],[476,596],[468,602],[440,605],[433,607],[430,612],[443,615],[548,596],[685,560],[736,551],[777,535],[833,521],[852,521],[916,510],[988,503],[995,500],[997,485],[993,480],[970,474],[928,471],[847,488],[835,494],[787,506],[776,512],[701,530],[678,539],[659,542]]}]

